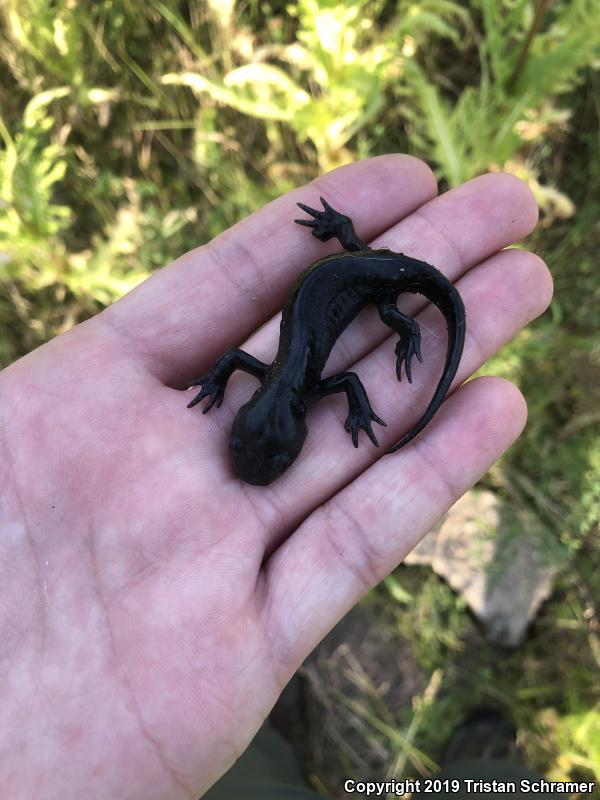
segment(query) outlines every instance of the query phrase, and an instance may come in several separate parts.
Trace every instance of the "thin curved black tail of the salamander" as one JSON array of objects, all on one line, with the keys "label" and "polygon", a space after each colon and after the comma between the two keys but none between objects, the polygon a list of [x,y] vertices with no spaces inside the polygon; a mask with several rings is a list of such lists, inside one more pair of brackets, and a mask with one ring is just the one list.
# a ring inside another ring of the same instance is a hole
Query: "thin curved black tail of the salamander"
[{"label": "thin curved black tail of the salamander", "polygon": [[456,376],[465,343],[465,307],[458,291],[450,281],[441,273],[437,273],[432,279],[431,290],[422,291],[422,294],[440,309],[446,320],[448,326],[446,363],[444,364],[442,376],[425,413],[414,428],[403,436],[393,447],[386,450],[386,453],[395,453],[396,450],[400,450],[401,447],[404,447],[418,436],[423,428],[431,421],[433,415],[441,406]]}]

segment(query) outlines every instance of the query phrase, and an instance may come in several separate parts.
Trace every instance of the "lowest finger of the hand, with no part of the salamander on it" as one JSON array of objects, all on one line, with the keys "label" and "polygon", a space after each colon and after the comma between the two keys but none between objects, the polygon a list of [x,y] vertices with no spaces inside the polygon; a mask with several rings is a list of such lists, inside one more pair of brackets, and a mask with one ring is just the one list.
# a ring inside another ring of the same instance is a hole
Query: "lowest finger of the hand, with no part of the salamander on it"
[{"label": "lowest finger of the hand, with no part of the salamander on it", "polygon": [[510,447],[525,420],[525,401],[508,381],[471,381],[418,440],[378,461],[273,553],[264,629],[282,683]]}]

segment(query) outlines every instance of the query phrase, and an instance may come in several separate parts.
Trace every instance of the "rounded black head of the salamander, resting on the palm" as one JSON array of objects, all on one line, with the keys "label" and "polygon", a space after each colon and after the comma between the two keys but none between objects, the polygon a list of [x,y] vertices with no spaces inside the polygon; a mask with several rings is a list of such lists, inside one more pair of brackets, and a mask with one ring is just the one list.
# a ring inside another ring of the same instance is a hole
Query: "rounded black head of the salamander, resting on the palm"
[{"label": "rounded black head of the salamander, resting on the palm", "polygon": [[302,450],[308,433],[306,405],[296,397],[261,396],[242,406],[231,428],[235,472],[246,483],[266,486],[279,478]]}]

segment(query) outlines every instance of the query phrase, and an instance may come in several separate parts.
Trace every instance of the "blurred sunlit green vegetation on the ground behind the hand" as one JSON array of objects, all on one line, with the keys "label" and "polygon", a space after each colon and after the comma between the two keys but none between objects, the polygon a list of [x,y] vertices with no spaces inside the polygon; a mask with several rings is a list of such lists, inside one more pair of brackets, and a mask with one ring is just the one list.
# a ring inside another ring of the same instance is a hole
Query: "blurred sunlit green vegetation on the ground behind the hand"
[{"label": "blurred sunlit green vegetation on the ground behind the hand", "polygon": [[413,153],[442,190],[486,170],[529,182],[528,246],[556,297],[486,367],[530,407],[486,484],[535,510],[561,576],[525,646],[482,647],[475,666],[472,621],[435,576],[402,573],[390,624],[425,669],[459,676],[406,723],[421,751],[437,758],[442,717],[487,692],[534,765],[600,779],[598,0],[1,0],[0,15],[0,366],[356,158]]}]

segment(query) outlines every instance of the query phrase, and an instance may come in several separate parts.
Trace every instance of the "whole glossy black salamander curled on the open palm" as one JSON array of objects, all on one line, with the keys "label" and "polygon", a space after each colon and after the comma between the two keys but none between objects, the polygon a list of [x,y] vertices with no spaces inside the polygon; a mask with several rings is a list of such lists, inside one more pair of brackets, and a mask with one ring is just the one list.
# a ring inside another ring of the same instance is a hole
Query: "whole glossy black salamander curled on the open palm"
[{"label": "whole glossy black salamander curled on the open palm", "polygon": [[465,308],[457,289],[431,264],[393,253],[374,250],[362,242],[349,217],[335,211],[323,198],[323,211],[298,203],[313,219],[296,223],[312,228],[322,242],[336,237],[345,253],[329,256],[306,269],[296,281],[283,309],[279,349],[272,364],[265,364],[243,350],[231,348],[215,365],[189,386],[200,386],[188,408],[208,397],[203,413],[220,406],[225,386],[236,369],[254,375],[260,388],[240,408],[233,422],[229,448],[239,478],[266,486],[282,475],[299,455],[308,429],[306,413],[311,403],[334,392],[346,392],[348,418],[345,428],[358,447],[358,432],[365,431],[379,446],[372,422],[385,425],[371,408],[360,378],[342,372],[323,380],[321,374],[342,331],[367,304],[373,303],[384,322],[399,339],[396,375],[402,365],[412,382],[411,362],[421,357],[417,322],[396,308],[398,295],[424,295],[436,305],[448,326],[446,363],[431,402],[417,424],[387,450],[404,447],[431,421],[456,375],[465,341]]}]

